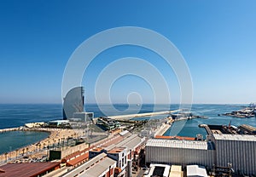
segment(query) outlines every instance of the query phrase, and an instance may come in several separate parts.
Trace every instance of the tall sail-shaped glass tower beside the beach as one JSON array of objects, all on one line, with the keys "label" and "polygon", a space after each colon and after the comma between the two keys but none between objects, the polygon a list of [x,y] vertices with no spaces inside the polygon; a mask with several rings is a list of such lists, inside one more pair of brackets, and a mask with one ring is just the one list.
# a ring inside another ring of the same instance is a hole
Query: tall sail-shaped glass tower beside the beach
[{"label": "tall sail-shaped glass tower beside the beach", "polygon": [[74,112],[84,111],[84,87],[72,88],[63,101],[63,119],[73,118]]}]

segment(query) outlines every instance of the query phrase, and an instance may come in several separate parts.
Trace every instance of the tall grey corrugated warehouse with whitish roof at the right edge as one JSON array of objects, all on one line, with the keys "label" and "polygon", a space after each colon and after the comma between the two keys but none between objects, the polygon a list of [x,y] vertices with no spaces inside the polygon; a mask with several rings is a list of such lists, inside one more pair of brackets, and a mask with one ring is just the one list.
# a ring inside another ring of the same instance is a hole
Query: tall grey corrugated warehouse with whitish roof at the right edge
[{"label": "tall grey corrugated warehouse with whitish roof at the right edge", "polygon": [[232,163],[236,173],[256,174],[256,136],[212,134],[216,146],[217,166]]}]

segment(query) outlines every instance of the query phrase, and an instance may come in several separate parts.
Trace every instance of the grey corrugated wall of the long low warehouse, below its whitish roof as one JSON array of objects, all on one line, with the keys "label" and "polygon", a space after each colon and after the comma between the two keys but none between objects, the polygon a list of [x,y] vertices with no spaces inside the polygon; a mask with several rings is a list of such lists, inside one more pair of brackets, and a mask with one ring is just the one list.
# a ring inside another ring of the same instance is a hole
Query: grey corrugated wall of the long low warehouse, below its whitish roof
[{"label": "grey corrugated wall of the long low warehouse, below its whitish roof", "polygon": [[146,146],[146,163],[183,165],[199,164],[212,168],[215,163],[214,150],[183,149]]}]

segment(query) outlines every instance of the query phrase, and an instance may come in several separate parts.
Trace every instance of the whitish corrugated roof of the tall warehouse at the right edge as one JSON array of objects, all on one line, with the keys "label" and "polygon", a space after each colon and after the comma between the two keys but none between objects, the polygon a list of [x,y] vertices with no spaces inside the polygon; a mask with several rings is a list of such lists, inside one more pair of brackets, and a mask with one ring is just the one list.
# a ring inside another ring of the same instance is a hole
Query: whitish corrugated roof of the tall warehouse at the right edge
[{"label": "whitish corrugated roof of the tall warehouse at the right edge", "polygon": [[247,134],[213,134],[215,140],[256,141],[256,135]]}]

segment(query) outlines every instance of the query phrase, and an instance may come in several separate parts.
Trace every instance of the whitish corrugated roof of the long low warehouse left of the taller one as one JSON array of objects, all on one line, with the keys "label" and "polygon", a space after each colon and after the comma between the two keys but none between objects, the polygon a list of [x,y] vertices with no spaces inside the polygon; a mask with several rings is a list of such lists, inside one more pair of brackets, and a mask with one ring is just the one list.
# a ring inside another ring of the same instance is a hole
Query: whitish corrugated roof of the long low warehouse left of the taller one
[{"label": "whitish corrugated roof of the long low warehouse left of the taller one", "polygon": [[146,146],[207,150],[206,141],[150,139]]}]

